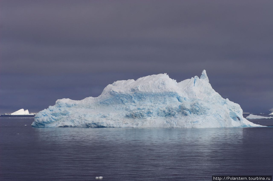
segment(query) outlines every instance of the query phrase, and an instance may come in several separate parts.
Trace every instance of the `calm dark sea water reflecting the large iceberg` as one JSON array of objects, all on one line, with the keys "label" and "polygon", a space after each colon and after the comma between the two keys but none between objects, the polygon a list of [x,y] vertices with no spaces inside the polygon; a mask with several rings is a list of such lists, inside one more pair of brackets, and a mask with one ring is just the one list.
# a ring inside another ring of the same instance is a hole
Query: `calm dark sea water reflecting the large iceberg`
[{"label": "calm dark sea water reflecting the large iceberg", "polygon": [[91,181],[96,176],[103,181],[178,181],[273,174],[273,127],[32,128],[33,120],[0,118],[1,181]]}]

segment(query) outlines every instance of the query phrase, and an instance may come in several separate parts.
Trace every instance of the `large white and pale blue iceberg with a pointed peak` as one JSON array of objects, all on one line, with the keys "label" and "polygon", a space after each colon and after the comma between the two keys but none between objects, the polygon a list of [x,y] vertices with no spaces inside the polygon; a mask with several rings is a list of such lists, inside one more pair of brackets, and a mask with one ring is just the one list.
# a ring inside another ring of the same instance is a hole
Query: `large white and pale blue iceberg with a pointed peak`
[{"label": "large white and pale blue iceberg with a pointed peak", "polygon": [[181,82],[165,74],[121,80],[99,97],[59,99],[33,127],[224,128],[260,126],[212,89],[206,71]]}]

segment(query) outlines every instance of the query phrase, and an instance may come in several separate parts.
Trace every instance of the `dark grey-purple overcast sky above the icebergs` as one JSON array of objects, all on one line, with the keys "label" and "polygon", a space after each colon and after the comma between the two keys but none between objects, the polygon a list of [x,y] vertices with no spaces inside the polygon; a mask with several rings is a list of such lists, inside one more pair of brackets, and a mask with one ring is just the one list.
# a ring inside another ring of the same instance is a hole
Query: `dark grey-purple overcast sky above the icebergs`
[{"label": "dark grey-purple overcast sky above the icebergs", "polygon": [[273,1],[0,0],[0,113],[117,80],[207,71],[244,112],[273,108]]}]

